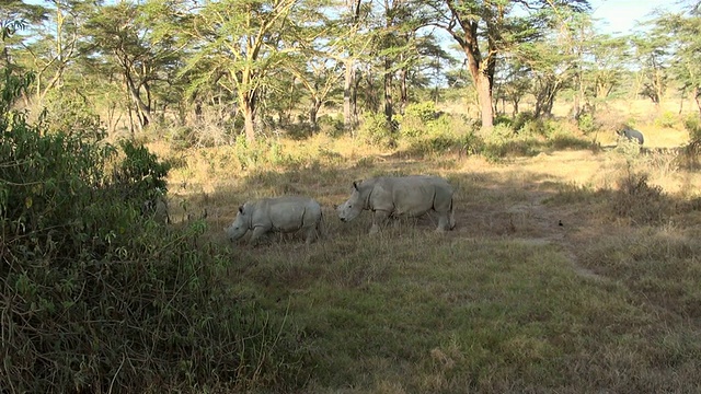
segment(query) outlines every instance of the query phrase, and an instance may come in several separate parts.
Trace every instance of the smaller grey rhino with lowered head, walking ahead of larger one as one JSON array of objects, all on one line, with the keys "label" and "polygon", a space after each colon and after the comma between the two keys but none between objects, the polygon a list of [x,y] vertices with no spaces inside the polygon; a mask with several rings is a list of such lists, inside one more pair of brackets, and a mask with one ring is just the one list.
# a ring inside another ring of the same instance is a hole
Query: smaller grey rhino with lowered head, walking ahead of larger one
[{"label": "smaller grey rhino with lowered head, walking ahead of larger one", "polygon": [[246,201],[230,227],[225,228],[231,241],[241,239],[251,230],[249,244],[268,232],[296,232],[303,230],[309,245],[321,234],[321,206],[314,199],[302,196],[283,196]]}]

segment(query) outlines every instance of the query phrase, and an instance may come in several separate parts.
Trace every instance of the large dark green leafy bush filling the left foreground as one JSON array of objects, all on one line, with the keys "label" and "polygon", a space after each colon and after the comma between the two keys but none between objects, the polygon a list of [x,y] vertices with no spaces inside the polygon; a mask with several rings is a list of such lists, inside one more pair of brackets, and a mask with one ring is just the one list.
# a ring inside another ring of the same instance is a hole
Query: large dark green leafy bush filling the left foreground
[{"label": "large dark green leafy bush filling the left foreground", "polygon": [[298,389],[295,329],[228,293],[225,255],[141,215],[168,165],[11,111],[0,92],[0,331],[10,392]]}]

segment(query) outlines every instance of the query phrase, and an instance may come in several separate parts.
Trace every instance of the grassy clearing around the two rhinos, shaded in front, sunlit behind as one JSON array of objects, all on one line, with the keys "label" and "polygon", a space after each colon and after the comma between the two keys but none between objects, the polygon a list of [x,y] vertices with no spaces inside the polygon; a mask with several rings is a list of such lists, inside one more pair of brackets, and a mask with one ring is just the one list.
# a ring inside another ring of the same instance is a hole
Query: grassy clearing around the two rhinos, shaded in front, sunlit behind
[{"label": "grassy clearing around the two rhinos, shaded in front, sunlit behind", "polygon": [[[186,163],[173,216],[207,210],[232,293],[300,333],[307,392],[701,390],[701,177],[674,151],[541,146],[495,163],[350,137],[275,143],[245,167],[233,147],[160,153]],[[370,237],[368,212],[335,219],[352,181],[414,173],[456,186],[456,231],[422,218]],[[226,242],[240,204],[280,194],[319,199],[327,237]]]}]

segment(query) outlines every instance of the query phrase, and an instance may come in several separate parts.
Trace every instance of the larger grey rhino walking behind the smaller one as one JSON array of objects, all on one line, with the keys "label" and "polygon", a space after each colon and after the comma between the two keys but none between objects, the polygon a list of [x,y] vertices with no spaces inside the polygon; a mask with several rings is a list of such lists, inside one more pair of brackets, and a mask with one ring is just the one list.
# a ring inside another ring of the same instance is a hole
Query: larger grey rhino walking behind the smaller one
[{"label": "larger grey rhino walking behind the smaller one", "polygon": [[375,212],[370,234],[390,217],[420,217],[429,210],[438,213],[437,231],[456,227],[452,187],[438,176],[382,176],[354,182],[350,198],[337,208],[338,218],[350,221],[366,209]]}]

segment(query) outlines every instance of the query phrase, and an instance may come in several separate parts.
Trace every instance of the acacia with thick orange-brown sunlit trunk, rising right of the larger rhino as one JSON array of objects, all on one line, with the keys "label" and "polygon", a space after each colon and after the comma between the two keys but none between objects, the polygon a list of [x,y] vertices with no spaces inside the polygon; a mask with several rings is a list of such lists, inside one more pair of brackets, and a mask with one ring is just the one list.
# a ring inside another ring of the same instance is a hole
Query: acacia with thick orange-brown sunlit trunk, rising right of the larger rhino
[{"label": "acacia with thick orange-brown sunlit trunk, rising right of the larger rhino", "polygon": [[464,51],[478,92],[482,127],[491,129],[497,57],[514,45],[537,36],[552,16],[547,10],[583,12],[588,10],[588,1],[429,0],[427,7],[433,13],[432,24],[448,32]]}]

